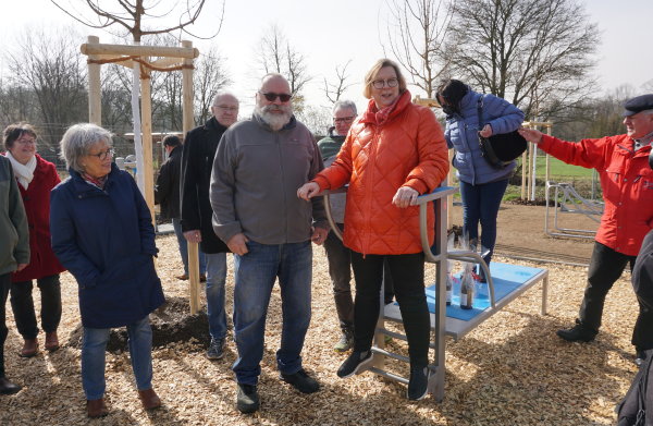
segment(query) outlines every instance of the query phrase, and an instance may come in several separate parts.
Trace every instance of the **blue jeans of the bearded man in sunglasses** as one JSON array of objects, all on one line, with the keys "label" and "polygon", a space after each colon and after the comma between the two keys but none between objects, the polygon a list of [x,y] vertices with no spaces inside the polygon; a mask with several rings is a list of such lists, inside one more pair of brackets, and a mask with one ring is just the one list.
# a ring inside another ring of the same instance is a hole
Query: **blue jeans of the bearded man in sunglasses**
[{"label": "blue jeans of the bearded man in sunglasses", "polygon": [[301,369],[301,348],[310,324],[312,247],[309,241],[288,244],[247,243],[249,253],[234,255],[234,337],[238,358],[236,380],[256,385],[261,374],[266,317],[279,278],[283,326],[276,367],[283,374]]}]

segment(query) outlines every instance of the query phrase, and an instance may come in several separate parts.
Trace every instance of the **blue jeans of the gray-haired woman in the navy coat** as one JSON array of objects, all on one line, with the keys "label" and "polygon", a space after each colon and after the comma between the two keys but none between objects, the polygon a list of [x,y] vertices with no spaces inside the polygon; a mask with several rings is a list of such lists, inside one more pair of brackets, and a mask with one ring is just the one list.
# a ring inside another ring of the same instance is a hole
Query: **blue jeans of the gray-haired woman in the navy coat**
[{"label": "blue jeans of the gray-haired woman in the navy coat", "polygon": [[[110,328],[84,327],[82,341],[82,387],[87,400],[104,395],[104,354]],[[138,390],[152,387],[152,329],[149,316],[127,325],[130,358]]]}]

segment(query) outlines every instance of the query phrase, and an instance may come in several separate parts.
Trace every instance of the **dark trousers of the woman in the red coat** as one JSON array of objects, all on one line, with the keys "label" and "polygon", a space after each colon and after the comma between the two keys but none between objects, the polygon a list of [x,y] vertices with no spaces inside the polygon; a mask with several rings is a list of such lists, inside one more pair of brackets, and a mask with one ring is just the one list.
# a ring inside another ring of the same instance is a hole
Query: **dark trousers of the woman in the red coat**
[{"label": "dark trousers of the woman in the red coat", "polygon": [[[41,327],[45,332],[57,331],[61,320],[61,283],[59,273],[39,278],[36,284],[41,293]],[[16,328],[23,339],[35,339],[38,334],[36,313],[32,299],[32,280],[11,283],[11,308]]]}]

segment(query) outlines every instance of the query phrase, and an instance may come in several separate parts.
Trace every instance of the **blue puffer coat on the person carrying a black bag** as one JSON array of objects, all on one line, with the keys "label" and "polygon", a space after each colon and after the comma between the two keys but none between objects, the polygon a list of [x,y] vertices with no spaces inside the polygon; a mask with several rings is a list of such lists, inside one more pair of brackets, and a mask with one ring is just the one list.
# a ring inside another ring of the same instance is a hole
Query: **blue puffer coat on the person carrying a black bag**
[{"label": "blue puffer coat on the person carrying a black bag", "polygon": [[[483,97],[483,122],[479,125],[478,99]],[[503,169],[492,167],[481,156],[478,132],[485,125],[492,134],[509,133],[521,125],[523,112],[513,104],[494,95],[469,90],[460,100],[460,113],[447,117],[444,137],[456,150],[453,166],[458,179],[472,185],[507,179],[515,170],[515,161]]]}]

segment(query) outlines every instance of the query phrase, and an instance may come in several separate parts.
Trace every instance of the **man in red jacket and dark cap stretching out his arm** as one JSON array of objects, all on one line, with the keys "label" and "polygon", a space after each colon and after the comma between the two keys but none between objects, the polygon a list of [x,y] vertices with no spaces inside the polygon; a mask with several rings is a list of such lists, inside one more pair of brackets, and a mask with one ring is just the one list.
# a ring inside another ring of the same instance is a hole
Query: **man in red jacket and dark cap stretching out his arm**
[{"label": "man in red jacket and dark cap stretching out his arm", "polygon": [[[594,340],[601,327],[607,292],[630,269],[644,235],[653,228],[653,170],[649,154],[653,142],[653,94],[638,96],[625,105],[626,134],[571,143],[535,130],[519,133],[543,151],[570,165],[596,169],[601,177],[605,208],[596,232],[588,270],[588,285],[576,326],[558,330],[570,342]],[[640,305],[640,311],[642,306]],[[643,346],[633,334],[637,361]]]}]

